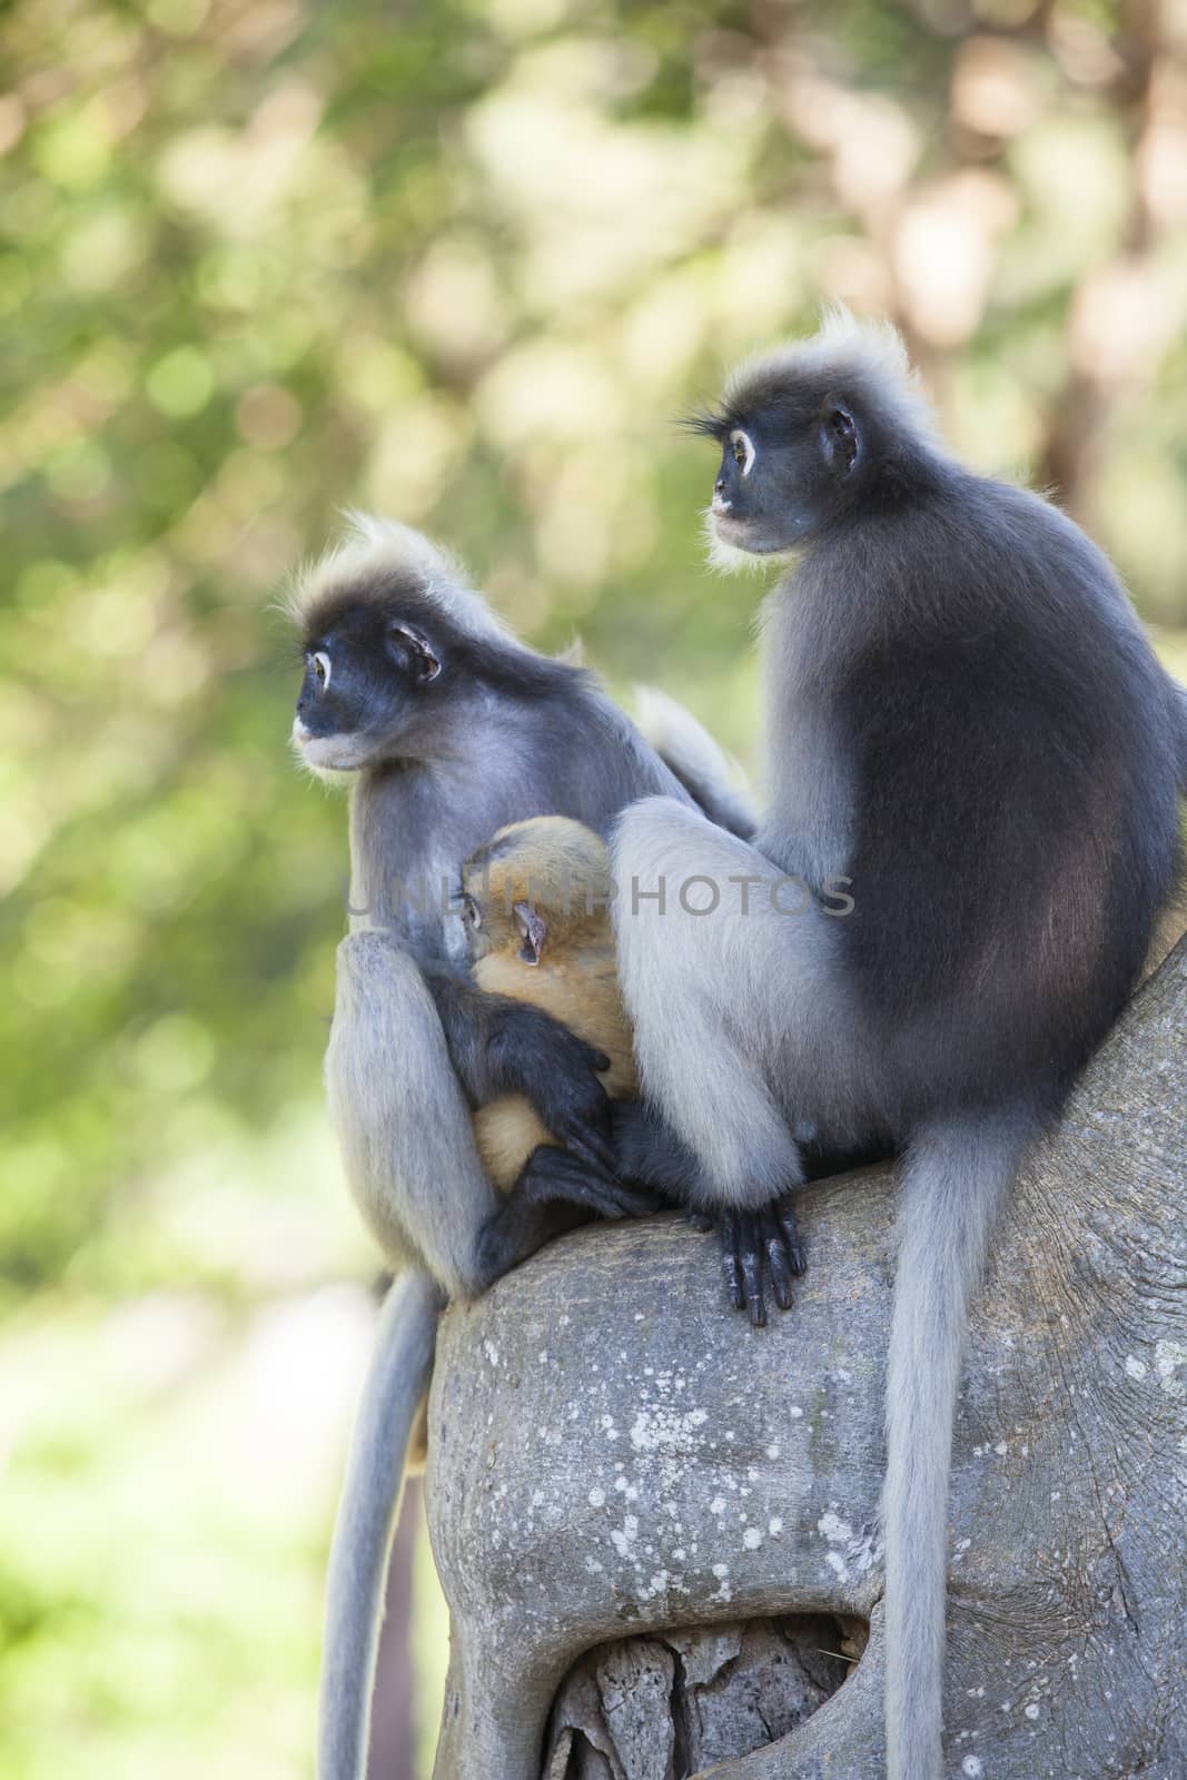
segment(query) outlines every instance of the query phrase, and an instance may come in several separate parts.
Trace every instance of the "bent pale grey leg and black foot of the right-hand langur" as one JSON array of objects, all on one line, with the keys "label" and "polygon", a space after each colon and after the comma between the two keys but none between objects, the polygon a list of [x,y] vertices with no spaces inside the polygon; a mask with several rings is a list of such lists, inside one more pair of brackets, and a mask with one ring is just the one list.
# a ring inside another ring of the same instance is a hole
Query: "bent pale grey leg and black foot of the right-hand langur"
[{"label": "bent pale grey leg and black foot of the right-hand langur", "polygon": [[[616,902],[614,924],[641,1075],[696,1157],[685,1191],[717,1223],[730,1301],[762,1324],[763,1267],[783,1305],[801,1255],[788,1214],[804,1166],[788,1109],[797,1121],[812,1118],[833,1043],[831,931],[787,920],[771,895],[755,897],[746,920],[740,901],[714,920],[666,902],[664,886],[690,874],[767,890],[778,881],[756,847],[667,797],[641,799],[619,817],[614,863],[616,879],[634,886]],[[774,1073],[763,1018],[772,1009],[783,1018],[785,1007],[797,1043]]]}]

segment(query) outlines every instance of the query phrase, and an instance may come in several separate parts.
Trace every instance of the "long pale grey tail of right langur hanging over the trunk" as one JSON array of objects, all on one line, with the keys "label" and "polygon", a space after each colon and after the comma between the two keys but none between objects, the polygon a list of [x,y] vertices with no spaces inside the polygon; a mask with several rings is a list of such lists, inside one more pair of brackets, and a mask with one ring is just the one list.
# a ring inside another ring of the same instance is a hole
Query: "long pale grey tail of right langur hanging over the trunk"
[{"label": "long pale grey tail of right langur hanging over the trunk", "polygon": [[906,1161],[886,1380],[886,1773],[943,1780],[949,1470],[968,1307],[1032,1123],[933,1123]]}]

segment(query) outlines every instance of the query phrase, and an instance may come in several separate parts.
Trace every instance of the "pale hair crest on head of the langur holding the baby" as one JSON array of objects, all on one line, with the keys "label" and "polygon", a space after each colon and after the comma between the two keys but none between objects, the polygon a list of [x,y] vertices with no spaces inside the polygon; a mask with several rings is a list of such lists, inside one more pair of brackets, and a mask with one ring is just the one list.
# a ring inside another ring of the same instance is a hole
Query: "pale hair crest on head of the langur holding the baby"
[{"label": "pale hair crest on head of the langur holding the baby", "polygon": [[303,632],[319,628],[319,614],[345,593],[386,600],[393,577],[413,578],[416,591],[443,618],[472,637],[516,648],[516,637],[470,586],[461,561],[424,532],[399,520],[347,513],[347,534],[315,562],[297,570],[283,607]]}]

